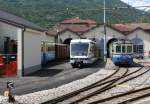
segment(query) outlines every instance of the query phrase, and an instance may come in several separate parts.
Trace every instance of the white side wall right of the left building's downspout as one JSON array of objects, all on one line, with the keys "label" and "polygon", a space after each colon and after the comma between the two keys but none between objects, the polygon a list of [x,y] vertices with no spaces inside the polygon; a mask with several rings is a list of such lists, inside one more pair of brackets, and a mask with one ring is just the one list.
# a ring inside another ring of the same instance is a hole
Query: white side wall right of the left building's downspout
[{"label": "white side wall right of the left building's downspout", "polygon": [[41,33],[26,30],[24,32],[25,74],[41,68]]}]

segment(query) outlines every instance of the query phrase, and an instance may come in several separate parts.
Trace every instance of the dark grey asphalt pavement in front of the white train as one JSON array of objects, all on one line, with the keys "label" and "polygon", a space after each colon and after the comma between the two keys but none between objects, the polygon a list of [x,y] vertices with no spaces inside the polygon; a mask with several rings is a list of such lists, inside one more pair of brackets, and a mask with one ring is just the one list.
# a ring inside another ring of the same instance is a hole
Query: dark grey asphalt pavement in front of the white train
[{"label": "dark grey asphalt pavement in front of the white train", "polygon": [[104,66],[105,64],[99,60],[91,66],[82,69],[72,69],[69,62],[63,62],[57,63],[57,65],[53,65],[51,67],[44,68],[41,71],[26,77],[0,78],[0,94],[3,94],[4,90],[6,89],[6,82],[10,80],[15,83],[15,94],[22,95],[69,83],[73,80],[77,80],[97,72],[101,67]]}]

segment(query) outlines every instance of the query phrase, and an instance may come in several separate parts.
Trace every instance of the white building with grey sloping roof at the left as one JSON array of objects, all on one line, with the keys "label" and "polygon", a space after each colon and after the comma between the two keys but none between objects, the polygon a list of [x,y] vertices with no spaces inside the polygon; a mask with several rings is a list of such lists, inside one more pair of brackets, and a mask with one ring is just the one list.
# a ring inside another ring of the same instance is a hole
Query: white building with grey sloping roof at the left
[{"label": "white building with grey sloping roof at the left", "polygon": [[[21,17],[0,11],[0,55],[16,55],[18,76],[41,69],[43,41],[54,43],[55,38],[49,35],[46,29]],[[5,64],[8,64],[6,61]]]}]

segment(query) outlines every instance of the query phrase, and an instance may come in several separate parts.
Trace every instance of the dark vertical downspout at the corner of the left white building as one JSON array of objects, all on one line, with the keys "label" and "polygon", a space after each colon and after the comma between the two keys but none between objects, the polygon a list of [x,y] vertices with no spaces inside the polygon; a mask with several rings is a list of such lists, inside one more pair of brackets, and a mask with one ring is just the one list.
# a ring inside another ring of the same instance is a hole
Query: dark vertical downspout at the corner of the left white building
[{"label": "dark vertical downspout at the corner of the left white building", "polygon": [[24,76],[24,32],[26,31],[25,27],[22,29],[22,76]]}]

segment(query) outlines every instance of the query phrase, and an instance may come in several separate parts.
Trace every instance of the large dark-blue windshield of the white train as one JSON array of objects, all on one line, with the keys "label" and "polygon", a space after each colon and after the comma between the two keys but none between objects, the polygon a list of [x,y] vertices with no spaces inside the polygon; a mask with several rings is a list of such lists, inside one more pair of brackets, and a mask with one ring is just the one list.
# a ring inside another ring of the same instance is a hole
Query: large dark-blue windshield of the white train
[{"label": "large dark-blue windshield of the white train", "polygon": [[72,56],[87,56],[89,43],[73,43],[71,44]]}]

